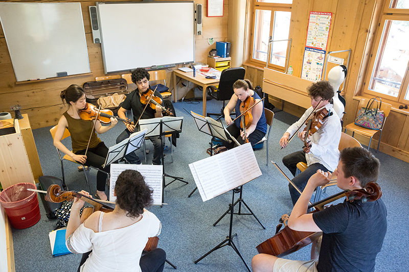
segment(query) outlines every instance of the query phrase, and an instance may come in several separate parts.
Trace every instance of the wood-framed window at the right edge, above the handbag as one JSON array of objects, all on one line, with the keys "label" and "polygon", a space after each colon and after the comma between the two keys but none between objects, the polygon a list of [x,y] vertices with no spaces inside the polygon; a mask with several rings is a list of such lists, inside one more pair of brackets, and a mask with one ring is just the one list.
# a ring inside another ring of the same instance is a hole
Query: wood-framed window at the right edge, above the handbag
[{"label": "wood-framed window at the right edge, above the handbag", "polygon": [[385,4],[365,90],[400,103],[409,102],[409,10],[403,10],[407,8],[409,0],[390,0]]}]

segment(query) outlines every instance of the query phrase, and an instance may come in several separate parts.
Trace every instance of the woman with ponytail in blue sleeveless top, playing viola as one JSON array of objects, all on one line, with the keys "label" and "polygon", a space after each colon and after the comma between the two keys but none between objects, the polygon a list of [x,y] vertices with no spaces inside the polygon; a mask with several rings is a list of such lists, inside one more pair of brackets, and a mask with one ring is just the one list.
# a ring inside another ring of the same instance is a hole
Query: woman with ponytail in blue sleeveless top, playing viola
[{"label": "woman with ponytail in blue sleeveless top, playing viola", "polygon": [[[267,132],[267,123],[264,114],[264,104],[258,103],[255,105],[251,111],[253,115],[253,121],[248,126],[248,128],[240,131],[240,118],[236,119],[233,123],[232,117],[230,117],[230,113],[235,109],[236,110],[236,117],[240,115],[240,104],[245,102],[247,98],[253,97],[254,103],[257,103],[261,100],[260,96],[253,90],[252,83],[245,79],[245,80],[237,80],[233,84],[234,94],[232,98],[230,98],[229,103],[223,110],[224,119],[226,123],[229,125],[228,130],[230,134],[237,138],[238,142],[243,143],[245,138],[248,138],[248,141],[254,146],[258,143],[266,134]],[[225,144],[226,145],[226,144]],[[227,144],[226,147],[229,149],[232,148],[234,143]]]}]

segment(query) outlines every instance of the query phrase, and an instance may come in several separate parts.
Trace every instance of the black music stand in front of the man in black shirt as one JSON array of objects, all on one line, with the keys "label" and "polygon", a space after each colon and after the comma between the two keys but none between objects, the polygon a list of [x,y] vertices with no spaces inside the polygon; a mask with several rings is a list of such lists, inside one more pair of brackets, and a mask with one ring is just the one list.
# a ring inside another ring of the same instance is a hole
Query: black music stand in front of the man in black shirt
[{"label": "black music stand in front of the man in black shirt", "polygon": [[[141,119],[139,120],[139,126],[142,130],[143,128],[147,129],[146,137],[160,137],[161,139],[161,158],[162,158],[162,167],[163,167],[163,189],[166,186],[170,185],[174,181],[178,180],[183,183],[189,184],[189,182],[184,181],[181,177],[171,176],[165,172],[165,159],[163,153],[163,137],[165,135],[171,134],[172,137],[176,133],[182,132],[182,123],[183,117],[171,117],[164,116],[161,118],[151,118],[151,119]],[[168,184],[165,183],[165,178],[172,178],[173,180]],[[164,194],[162,194],[163,198]],[[162,201],[164,202],[164,201]]]}]

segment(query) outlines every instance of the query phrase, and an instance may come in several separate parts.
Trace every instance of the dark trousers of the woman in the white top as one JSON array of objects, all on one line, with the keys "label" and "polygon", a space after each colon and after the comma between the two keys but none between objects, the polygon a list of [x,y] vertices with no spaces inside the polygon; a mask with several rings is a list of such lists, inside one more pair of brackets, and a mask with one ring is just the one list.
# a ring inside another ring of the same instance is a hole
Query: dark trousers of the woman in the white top
[{"label": "dark trousers of the woman in the white top", "polygon": [[[91,252],[93,251],[82,254],[80,266],[78,266],[78,272],[80,272],[81,265],[85,263]],[[142,254],[139,266],[141,266],[142,272],[162,272],[165,266],[165,261],[166,252],[163,249],[155,249]]]}]

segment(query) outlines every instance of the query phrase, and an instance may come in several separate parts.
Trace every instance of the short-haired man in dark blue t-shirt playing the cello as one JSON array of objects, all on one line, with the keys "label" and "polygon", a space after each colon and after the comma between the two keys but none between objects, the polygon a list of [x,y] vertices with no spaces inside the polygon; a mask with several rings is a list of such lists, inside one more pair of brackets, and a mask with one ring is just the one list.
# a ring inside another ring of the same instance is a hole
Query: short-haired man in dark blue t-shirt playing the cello
[{"label": "short-haired man in dark blue t-shirt playing the cello", "polygon": [[[365,187],[376,181],[379,160],[362,147],[340,153],[334,175],[344,190]],[[252,260],[253,271],[374,271],[375,258],[387,231],[387,210],[381,199],[344,202],[323,211],[306,213],[314,189],[331,179],[330,172],[317,170],[292,209],[288,227],[295,231],[323,232],[320,256],[310,261],[292,261],[267,254]]]}]

